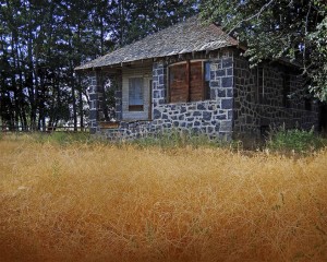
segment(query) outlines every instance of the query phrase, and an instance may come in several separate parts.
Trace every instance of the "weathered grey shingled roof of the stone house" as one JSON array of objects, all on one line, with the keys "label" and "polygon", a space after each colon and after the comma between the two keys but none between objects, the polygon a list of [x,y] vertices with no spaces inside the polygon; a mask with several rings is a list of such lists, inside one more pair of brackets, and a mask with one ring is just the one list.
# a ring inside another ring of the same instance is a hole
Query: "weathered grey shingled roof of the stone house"
[{"label": "weathered grey shingled roof of the stone house", "polygon": [[215,24],[203,24],[197,16],[172,25],[131,45],[77,67],[75,70],[101,68],[137,60],[169,57],[237,46],[238,40]]}]

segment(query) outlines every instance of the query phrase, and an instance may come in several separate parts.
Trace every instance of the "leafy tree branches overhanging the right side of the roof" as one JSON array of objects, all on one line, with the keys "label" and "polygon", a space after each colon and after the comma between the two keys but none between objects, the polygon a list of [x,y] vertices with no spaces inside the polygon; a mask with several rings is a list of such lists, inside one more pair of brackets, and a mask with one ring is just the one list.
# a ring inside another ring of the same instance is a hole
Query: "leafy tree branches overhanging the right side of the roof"
[{"label": "leafy tree branches overhanging the right side of the roof", "polygon": [[253,66],[264,59],[300,62],[306,87],[327,100],[326,1],[205,0],[201,13],[244,43]]}]

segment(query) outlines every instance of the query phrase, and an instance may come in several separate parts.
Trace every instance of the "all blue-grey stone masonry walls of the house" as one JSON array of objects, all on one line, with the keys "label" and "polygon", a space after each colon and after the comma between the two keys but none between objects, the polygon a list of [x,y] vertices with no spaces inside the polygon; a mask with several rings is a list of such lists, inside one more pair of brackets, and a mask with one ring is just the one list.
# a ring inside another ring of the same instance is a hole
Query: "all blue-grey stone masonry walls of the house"
[{"label": "all blue-grey stone masonry walls of the house", "polygon": [[[117,74],[116,116],[120,124],[116,129],[98,126],[102,114],[101,81],[99,72],[92,74],[88,88],[90,132],[100,132],[110,140],[124,140],[183,130],[231,140],[259,138],[263,129],[270,126],[310,129],[317,124],[318,108],[315,104],[312,103],[311,110],[307,110],[300,96],[286,102],[284,85],[289,85],[288,92],[292,94],[299,93],[302,83],[286,66],[264,63],[262,71],[251,69],[249,61],[232,49],[211,52],[203,58],[210,63],[210,98],[192,103],[168,102],[168,67],[177,60],[162,59],[153,63],[153,119],[148,121],[123,121],[122,80]],[[289,75],[287,82],[286,72]]]}]

